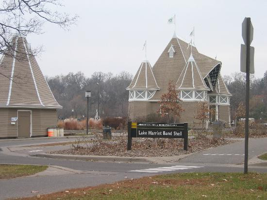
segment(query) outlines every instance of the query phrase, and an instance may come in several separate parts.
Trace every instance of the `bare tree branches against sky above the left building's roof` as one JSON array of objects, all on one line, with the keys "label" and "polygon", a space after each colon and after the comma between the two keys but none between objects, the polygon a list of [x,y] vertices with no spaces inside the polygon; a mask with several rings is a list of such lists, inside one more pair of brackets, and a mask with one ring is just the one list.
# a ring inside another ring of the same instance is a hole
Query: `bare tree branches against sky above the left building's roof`
[{"label": "bare tree branches against sky above the left building's roof", "polygon": [[[63,4],[60,0],[2,0],[0,5],[0,54],[14,57],[14,34],[27,36],[42,33],[45,22],[54,23],[68,30],[78,16],[56,11]],[[54,8],[54,10],[50,9]],[[32,50],[36,54],[40,48]]]}]

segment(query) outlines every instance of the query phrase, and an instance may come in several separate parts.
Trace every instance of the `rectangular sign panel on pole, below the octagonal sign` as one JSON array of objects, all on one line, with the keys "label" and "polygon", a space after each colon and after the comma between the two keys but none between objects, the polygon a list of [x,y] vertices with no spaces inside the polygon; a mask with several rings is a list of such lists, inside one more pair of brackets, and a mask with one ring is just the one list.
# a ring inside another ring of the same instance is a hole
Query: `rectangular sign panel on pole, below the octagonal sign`
[{"label": "rectangular sign panel on pole, below the octagonal sign", "polygon": [[[241,44],[240,71],[247,72],[247,46]],[[250,74],[254,74],[254,47],[250,47]]]}]

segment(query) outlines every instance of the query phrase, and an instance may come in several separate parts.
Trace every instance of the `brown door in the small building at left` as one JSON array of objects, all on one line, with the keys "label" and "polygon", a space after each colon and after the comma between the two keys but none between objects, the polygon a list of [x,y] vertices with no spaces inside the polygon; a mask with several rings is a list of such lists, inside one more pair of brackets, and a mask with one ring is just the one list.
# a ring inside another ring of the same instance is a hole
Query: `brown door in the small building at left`
[{"label": "brown door in the small building at left", "polygon": [[30,137],[31,136],[31,112],[18,111],[17,114],[17,136]]}]

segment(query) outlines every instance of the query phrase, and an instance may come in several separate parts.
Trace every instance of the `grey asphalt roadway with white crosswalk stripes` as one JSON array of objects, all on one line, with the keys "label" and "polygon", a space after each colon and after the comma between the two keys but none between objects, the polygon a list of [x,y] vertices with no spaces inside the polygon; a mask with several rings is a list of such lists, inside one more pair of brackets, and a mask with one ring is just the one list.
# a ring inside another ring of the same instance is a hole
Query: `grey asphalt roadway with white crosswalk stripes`
[{"label": "grey asphalt roadway with white crosswalk stripes", "polygon": [[[70,141],[73,138],[56,138],[34,140],[0,140],[3,150],[6,146],[36,144],[44,142]],[[30,156],[36,153],[55,150],[61,147],[31,148],[30,150],[18,150],[13,152],[0,151],[0,163],[35,164],[67,167],[76,170],[75,173],[24,177],[10,180],[0,180],[0,199],[26,197],[38,194],[51,193],[75,187],[98,185],[101,183],[113,183],[127,178],[139,178],[161,173],[210,171],[210,172],[242,172],[240,164],[244,161],[244,142],[238,142],[212,148],[181,159],[177,163],[148,164],[148,163],[106,163],[88,162],[79,160],[57,160]],[[250,158],[267,151],[267,138],[250,139]],[[214,155],[215,154],[215,155]],[[221,155],[219,155],[221,154]],[[250,171],[267,172],[265,166],[253,166]],[[127,178],[125,178],[127,177]]]}]

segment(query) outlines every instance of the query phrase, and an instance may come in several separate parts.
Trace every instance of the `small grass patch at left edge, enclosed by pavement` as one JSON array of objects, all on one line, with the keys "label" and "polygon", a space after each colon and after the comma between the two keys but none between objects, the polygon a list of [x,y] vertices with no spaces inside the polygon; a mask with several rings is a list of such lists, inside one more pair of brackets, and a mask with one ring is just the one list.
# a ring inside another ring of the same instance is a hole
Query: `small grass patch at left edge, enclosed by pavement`
[{"label": "small grass patch at left edge, enclosed by pavement", "polygon": [[29,176],[46,169],[47,166],[0,164],[0,179],[12,179],[21,176]]}]

